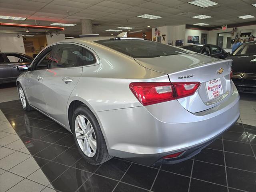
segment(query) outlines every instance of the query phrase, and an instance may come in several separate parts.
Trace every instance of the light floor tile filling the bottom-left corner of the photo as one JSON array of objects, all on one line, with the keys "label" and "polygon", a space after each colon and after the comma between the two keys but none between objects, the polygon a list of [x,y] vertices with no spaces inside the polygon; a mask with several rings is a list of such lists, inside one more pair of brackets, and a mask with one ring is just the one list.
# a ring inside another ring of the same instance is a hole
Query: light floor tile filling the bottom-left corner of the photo
[{"label": "light floor tile filling the bottom-left corner of the photo", "polygon": [[16,185],[22,179],[24,178],[13,173],[4,172],[3,174],[0,175],[0,191],[4,192],[10,189],[12,186]]}]

